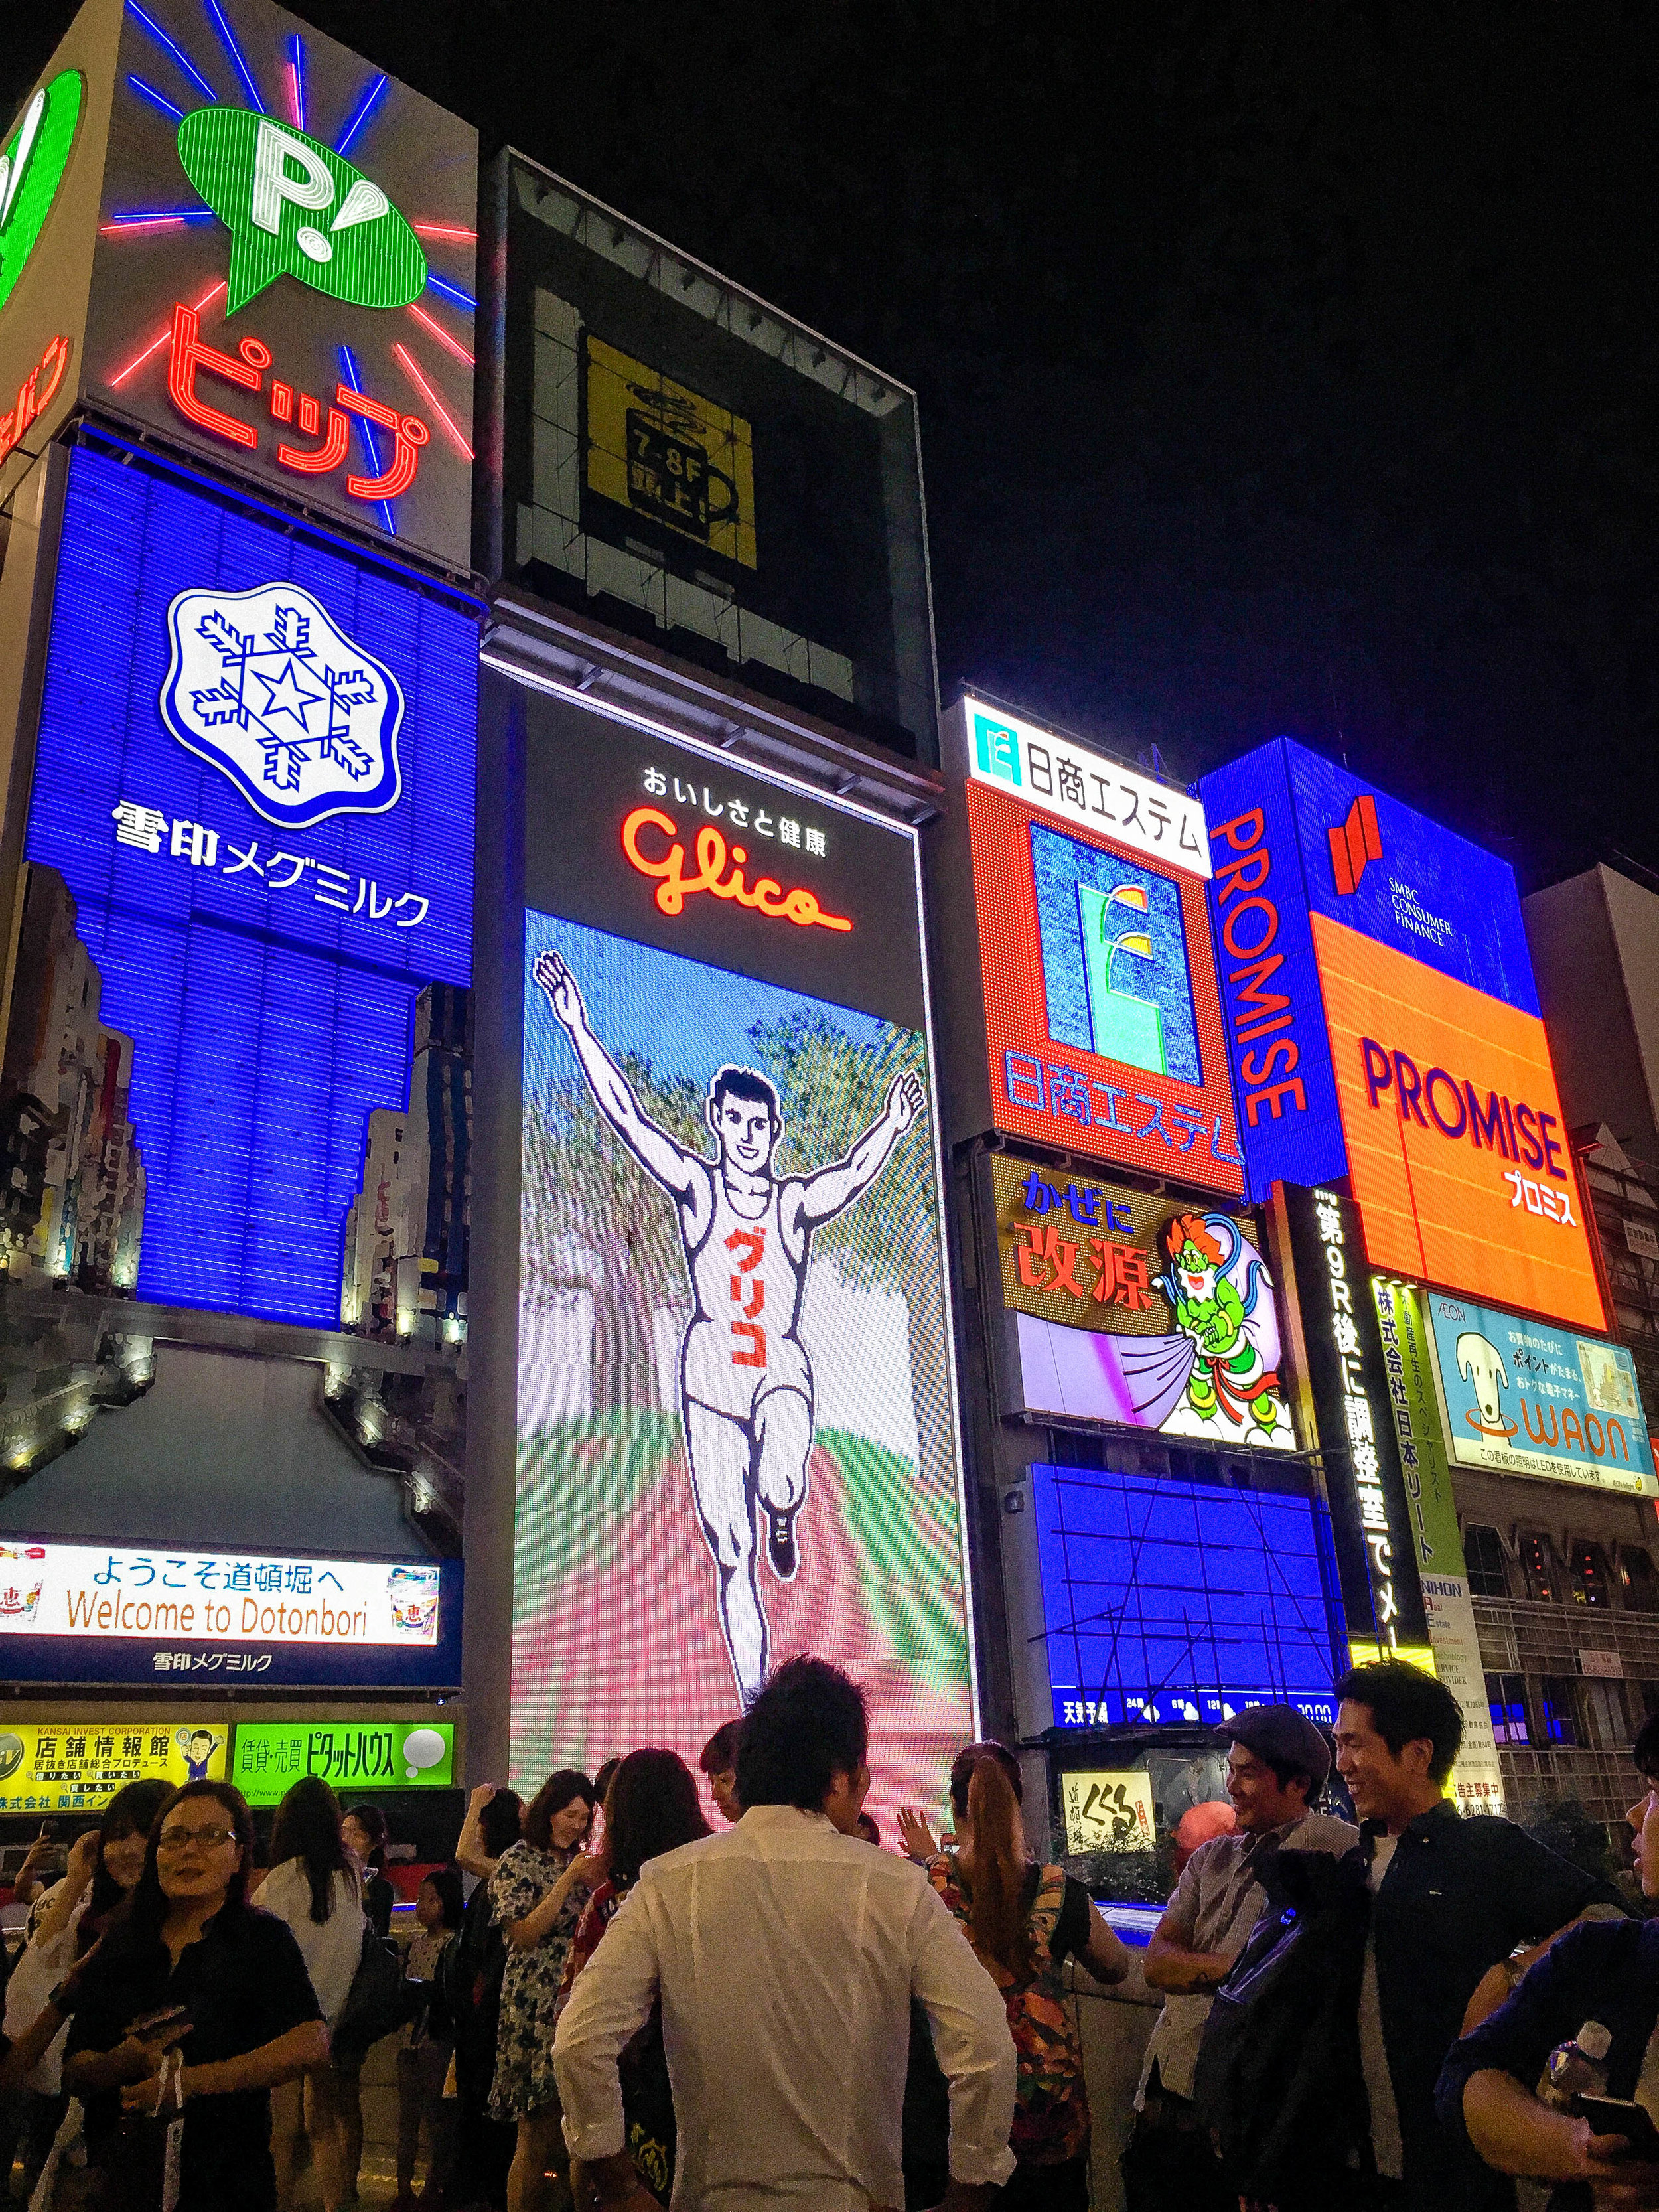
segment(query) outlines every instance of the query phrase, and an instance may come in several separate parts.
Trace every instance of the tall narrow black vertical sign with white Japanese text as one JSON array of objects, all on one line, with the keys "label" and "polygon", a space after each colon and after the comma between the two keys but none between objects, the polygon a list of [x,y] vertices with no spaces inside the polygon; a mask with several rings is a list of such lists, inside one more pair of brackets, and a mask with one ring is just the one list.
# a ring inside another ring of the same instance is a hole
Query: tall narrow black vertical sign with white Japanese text
[{"label": "tall narrow black vertical sign with white Japanese text", "polygon": [[1358,1657],[1418,1657],[1427,1619],[1411,1506],[1356,1210],[1294,1186],[1283,1206],[1349,1644]]}]

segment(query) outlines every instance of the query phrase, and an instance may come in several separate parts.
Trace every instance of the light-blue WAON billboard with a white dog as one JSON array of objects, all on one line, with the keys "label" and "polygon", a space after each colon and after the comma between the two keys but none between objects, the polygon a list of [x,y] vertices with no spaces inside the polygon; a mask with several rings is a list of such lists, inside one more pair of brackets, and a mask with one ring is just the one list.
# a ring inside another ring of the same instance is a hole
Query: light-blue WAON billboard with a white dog
[{"label": "light-blue WAON billboard with a white dog", "polygon": [[1444,1433],[1460,1467],[1659,1495],[1624,1345],[1425,1292]]}]

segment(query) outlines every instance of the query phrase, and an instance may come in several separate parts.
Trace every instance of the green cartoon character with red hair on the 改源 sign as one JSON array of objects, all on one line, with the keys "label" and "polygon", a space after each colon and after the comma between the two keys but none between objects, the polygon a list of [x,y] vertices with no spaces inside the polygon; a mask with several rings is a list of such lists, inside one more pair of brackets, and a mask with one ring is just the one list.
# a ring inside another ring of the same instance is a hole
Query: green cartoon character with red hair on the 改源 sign
[{"label": "green cartoon character with red hair on the \u6539\u6e90 sign", "polygon": [[[1252,1422],[1263,1438],[1285,1420],[1279,1398],[1279,1323],[1267,1270],[1228,1214],[1175,1214],[1157,1234],[1166,1272],[1159,1290],[1175,1325],[1197,1349],[1186,1398],[1203,1422]],[[1245,1287],[1234,1267],[1245,1263]]]}]

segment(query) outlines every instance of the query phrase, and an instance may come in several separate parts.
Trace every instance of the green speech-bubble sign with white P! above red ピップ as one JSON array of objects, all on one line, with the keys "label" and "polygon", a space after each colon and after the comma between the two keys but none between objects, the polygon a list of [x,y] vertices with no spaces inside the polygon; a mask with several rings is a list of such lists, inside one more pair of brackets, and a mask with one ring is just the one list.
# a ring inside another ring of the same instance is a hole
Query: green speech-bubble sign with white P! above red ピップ
[{"label": "green speech-bubble sign with white P! above red \u30d4\u30c3\u30d7", "polygon": [[303,131],[248,108],[197,108],[179,161],[230,232],[226,314],[279,276],[349,307],[407,307],[427,285],[420,239],[378,184]]}]

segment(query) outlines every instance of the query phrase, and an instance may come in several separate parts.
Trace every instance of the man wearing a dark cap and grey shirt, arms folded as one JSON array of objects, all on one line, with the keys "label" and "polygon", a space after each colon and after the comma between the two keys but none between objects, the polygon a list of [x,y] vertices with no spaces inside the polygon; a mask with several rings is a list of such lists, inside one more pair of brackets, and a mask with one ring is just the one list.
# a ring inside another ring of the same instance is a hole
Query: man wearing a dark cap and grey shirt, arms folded
[{"label": "man wearing a dark cap and grey shirt, arms folded", "polygon": [[1340,1858],[1360,1840],[1347,1820],[1307,1809],[1329,1781],[1332,1754],[1294,1705],[1248,1705],[1221,1734],[1232,1745],[1228,1798],[1237,1829],[1192,1851],[1146,1947],[1146,1980],[1164,1991],[1164,2011],[1146,2046],[1124,2152],[1130,2212],[1234,2212],[1237,2190],[1228,2190],[1192,2112],[1203,2022],[1267,1902],[1265,1858],[1279,1849]]}]

